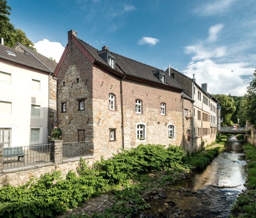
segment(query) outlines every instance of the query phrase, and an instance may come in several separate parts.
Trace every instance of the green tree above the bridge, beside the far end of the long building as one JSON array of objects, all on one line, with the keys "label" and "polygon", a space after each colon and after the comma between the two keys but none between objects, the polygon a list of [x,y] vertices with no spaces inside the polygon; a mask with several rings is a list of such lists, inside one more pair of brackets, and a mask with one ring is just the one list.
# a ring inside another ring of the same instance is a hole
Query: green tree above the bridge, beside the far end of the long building
[{"label": "green tree above the bridge, beside the far end of the long building", "polygon": [[231,116],[235,112],[234,100],[233,98],[222,95],[213,95],[221,106],[221,117],[223,118],[222,126],[228,127],[233,124],[231,121]]}]

